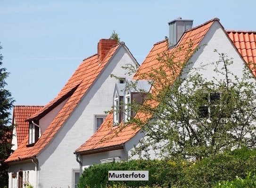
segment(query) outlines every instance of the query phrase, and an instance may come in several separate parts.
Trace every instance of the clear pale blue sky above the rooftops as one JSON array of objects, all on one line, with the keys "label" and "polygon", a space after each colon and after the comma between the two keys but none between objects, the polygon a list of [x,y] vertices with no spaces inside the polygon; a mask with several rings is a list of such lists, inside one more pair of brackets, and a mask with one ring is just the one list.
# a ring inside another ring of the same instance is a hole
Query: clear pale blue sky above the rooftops
[{"label": "clear pale blue sky above the rooftops", "polygon": [[256,31],[255,8],[255,0],[0,0],[7,88],[15,105],[44,105],[113,30],[142,63],[178,16],[193,26],[218,17],[226,30]]}]

